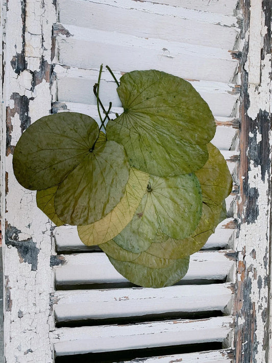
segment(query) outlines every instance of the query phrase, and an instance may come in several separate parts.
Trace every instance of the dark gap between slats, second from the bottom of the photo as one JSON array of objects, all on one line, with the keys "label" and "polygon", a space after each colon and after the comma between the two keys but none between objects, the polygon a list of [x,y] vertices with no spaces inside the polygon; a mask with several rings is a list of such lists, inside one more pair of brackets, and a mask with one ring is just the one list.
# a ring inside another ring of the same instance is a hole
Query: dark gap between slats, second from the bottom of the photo
[{"label": "dark gap between slats, second from the bottom of the photo", "polygon": [[[208,319],[214,317],[222,317],[224,313],[221,310],[210,310],[210,311],[174,311],[174,312],[164,312],[158,314],[146,314],[142,316],[132,316],[132,317],[120,317],[120,318],[108,318],[108,319],[85,319],[85,320],[71,320],[56,322],[57,328],[62,327],[81,327],[81,326],[96,326],[96,325],[131,325],[143,322],[156,322],[156,321],[167,321],[176,319]],[[72,312],[71,312],[72,316]]]}]

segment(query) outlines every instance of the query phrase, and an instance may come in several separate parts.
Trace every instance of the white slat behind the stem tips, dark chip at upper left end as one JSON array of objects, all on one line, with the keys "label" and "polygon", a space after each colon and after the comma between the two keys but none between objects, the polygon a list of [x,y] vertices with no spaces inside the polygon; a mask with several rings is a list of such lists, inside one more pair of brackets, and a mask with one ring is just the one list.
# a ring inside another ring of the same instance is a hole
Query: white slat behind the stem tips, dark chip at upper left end
[{"label": "white slat behind the stem tips, dark chip at upper left end", "polygon": [[104,63],[123,72],[171,69],[182,78],[229,83],[238,64],[229,51],[219,48],[62,26],[68,36],[57,37],[59,62],[68,66],[99,68]]}]

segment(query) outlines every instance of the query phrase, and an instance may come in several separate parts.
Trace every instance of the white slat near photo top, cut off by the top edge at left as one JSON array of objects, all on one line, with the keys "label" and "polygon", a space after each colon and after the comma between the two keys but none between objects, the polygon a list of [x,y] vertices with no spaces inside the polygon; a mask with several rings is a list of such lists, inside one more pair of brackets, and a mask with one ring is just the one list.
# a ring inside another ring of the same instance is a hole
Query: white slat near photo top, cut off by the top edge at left
[{"label": "white slat near photo top, cut off by the top edge at left", "polygon": [[[60,0],[60,22],[140,38],[233,49],[240,29],[234,16],[133,0]],[[78,9],[81,11],[78,11]],[[194,31],[192,31],[192,29]],[[212,35],[212,36],[211,36]]]}]

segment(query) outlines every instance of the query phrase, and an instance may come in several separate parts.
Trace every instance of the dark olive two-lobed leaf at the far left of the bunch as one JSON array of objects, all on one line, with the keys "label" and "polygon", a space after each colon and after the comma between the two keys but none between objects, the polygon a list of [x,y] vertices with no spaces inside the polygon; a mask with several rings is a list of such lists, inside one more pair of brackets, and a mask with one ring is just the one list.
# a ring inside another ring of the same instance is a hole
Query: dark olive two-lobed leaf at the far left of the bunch
[{"label": "dark olive two-lobed leaf at the far left of the bunch", "polygon": [[123,147],[107,141],[95,120],[79,113],[50,115],[31,125],[18,141],[13,167],[29,189],[59,184],[56,213],[71,225],[90,224],[108,214],[129,178]]}]

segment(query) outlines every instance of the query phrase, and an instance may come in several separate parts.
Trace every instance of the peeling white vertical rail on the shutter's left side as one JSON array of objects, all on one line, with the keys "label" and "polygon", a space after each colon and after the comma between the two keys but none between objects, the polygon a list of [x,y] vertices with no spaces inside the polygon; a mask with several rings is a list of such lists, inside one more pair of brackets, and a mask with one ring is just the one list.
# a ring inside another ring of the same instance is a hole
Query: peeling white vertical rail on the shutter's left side
[{"label": "peeling white vertical rail on the shutter's left side", "polygon": [[[51,224],[35,192],[22,188],[12,170],[21,133],[51,112],[54,0],[12,0],[3,5],[4,33],[2,223],[5,362],[53,362],[50,331]],[[5,122],[6,121],[6,122]],[[4,150],[5,149],[5,150]]]}]

